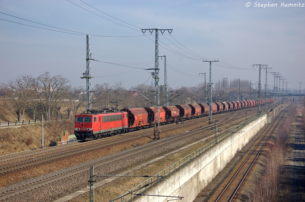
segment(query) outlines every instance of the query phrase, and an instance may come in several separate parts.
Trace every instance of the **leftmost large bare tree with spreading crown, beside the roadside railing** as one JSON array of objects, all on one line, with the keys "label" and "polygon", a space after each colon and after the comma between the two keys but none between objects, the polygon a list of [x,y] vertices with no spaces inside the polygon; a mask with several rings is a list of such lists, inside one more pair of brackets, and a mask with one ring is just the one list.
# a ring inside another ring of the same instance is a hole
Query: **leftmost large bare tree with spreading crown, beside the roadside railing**
[{"label": "leftmost large bare tree with spreading crown, beside the roadside railing", "polygon": [[12,98],[12,108],[14,109],[18,121],[28,107],[33,95],[32,83],[34,78],[31,75],[17,76],[14,80],[9,81],[9,88]]}]

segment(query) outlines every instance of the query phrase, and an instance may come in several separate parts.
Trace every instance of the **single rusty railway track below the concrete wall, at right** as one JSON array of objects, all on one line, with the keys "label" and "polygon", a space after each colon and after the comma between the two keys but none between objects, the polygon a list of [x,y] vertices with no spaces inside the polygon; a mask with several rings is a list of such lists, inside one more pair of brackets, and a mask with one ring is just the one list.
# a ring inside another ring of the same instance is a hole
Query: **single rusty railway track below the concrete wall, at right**
[{"label": "single rusty railway track below the concrete wall, at right", "polygon": [[291,107],[292,105],[288,106],[285,111],[282,111],[273,121],[273,123],[268,128],[267,132],[263,135],[263,137],[260,139],[259,143],[255,146],[253,151],[249,154],[249,156],[246,158],[244,163],[240,166],[238,171],[235,173],[235,175],[232,177],[232,179],[229,181],[227,186],[222,190],[221,194],[217,197],[215,202],[229,202],[233,199],[234,195],[237,193],[240,185],[242,184],[243,180],[247,176],[249,170],[255,163],[257,157],[259,156],[260,152],[264,148],[265,144],[273,134],[274,130],[277,128],[279,122],[282,120],[283,116],[285,115],[285,112]]}]

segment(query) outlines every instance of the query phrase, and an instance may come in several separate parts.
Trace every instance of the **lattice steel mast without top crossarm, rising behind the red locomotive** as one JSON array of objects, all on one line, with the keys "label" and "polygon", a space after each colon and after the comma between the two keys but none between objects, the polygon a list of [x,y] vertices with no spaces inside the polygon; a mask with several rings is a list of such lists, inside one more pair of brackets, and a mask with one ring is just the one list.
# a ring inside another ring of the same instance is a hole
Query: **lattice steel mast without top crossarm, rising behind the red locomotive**
[{"label": "lattice steel mast without top crossarm, rising behind the red locomotive", "polygon": [[83,73],[83,77],[81,79],[86,79],[86,110],[91,109],[91,71],[90,71],[90,60],[91,53],[90,53],[90,40],[89,35],[87,34],[87,56],[86,56],[86,71]]}]

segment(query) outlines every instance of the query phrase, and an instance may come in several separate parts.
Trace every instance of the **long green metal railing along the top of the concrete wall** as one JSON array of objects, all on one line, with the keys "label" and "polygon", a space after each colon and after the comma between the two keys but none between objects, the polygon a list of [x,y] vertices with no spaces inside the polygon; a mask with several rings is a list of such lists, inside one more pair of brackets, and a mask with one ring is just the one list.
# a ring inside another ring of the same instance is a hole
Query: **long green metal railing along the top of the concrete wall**
[{"label": "long green metal railing along the top of the concrete wall", "polygon": [[[155,176],[164,176],[164,179],[168,176],[171,176],[173,173],[176,173],[182,167],[188,165],[188,163],[191,163],[193,160],[200,157],[204,152],[208,151],[209,149],[211,149],[213,146],[215,146],[219,142],[223,141],[224,139],[231,136],[232,134],[234,134],[236,132],[239,132],[240,128],[246,126],[250,122],[253,122],[254,120],[256,120],[256,119],[258,119],[262,116],[266,116],[266,112],[264,112],[260,115],[257,115],[255,117],[252,117],[252,118],[248,119],[247,121],[243,122],[242,124],[239,124],[235,128],[233,128],[230,131],[224,133],[223,135],[220,135],[219,137],[217,137],[213,141],[207,143],[205,146],[196,150],[195,152],[189,154],[188,156],[185,156],[183,159],[179,160],[178,162],[174,163],[173,165],[171,165],[171,166],[167,167],[166,169],[162,170],[160,173],[156,174]],[[142,182],[138,186],[132,188],[130,191],[124,193],[122,196],[120,196],[116,200],[113,200],[113,202],[114,201],[121,201],[121,202],[133,201],[134,195],[142,194],[143,192],[147,192],[148,188],[153,188],[153,186],[156,186],[157,184],[159,184],[160,180],[157,180],[156,182],[154,182],[156,179],[158,179],[158,177],[149,178],[148,180]]]}]

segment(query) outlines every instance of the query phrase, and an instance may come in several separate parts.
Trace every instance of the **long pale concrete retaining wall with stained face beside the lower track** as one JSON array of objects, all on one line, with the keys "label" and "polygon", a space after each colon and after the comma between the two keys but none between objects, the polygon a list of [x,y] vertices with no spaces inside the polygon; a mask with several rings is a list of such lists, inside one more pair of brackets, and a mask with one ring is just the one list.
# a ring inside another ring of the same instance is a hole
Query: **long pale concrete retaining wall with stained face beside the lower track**
[{"label": "long pale concrete retaining wall with stained face beside the lower track", "polygon": [[[240,128],[240,132],[228,137],[210,151],[195,159],[188,166],[167,177],[160,185],[146,194],[163,196],[181,196],[182,201],[193,201],[197,194],[226,166],[237,152],[266,124],[266,116]],[[161,202],[170,197],[142,196],[136,202]],[[180,201],[180,200],[179,200]]]}]

